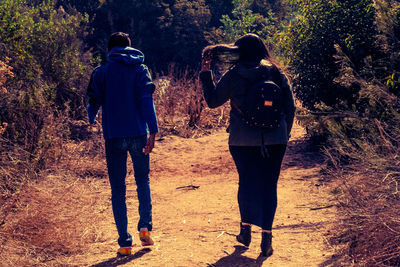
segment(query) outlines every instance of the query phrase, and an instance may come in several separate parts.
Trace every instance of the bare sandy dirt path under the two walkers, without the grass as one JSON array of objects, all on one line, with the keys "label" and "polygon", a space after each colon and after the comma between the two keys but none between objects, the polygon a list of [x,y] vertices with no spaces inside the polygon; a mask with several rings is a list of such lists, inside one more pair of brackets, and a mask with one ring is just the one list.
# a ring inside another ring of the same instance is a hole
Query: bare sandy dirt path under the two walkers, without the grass
[{"label": "bare sandy dirt path under the two walkers, without the grass", "polygon": [[[258,258],[260,229],[253,227],[248,250],[235,241],[239,212],[237,174],[221,131],[199,139],[166,137],[152,154],[153,237],[150,248],[138,246],[116,258],[116,229],[108,183],[98,183],[93,197],[103,198],[103,220],[91,253],[70,258],[79,266],[328,266],[333,248],[325,234],[334,221],[326,188],[318,182],[315,155],[302,152],[303,131],[296,126],[284,159],[273,229],[274,254]],[[132,172],[127,203],[131,233],[136,230],[137,199]],[[188,187],[189,186],[189,187]],[[190,190],[190,186],[198,189]],[[177,189],[179,187],[184,187]]]}]

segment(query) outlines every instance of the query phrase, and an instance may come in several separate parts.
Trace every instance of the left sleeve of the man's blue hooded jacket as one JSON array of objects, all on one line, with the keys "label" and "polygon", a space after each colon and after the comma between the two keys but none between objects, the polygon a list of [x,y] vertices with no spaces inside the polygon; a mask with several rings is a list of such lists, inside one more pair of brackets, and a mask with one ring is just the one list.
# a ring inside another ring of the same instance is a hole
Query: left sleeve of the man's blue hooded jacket
[{"label": "left sleeve of the man's blue hooded jacket", "polygon": [[96,120],[100,106],[104,103],[104,83],[99,68],[95,69],[90,77],[87,95],[89,105],[87,106],[89,123],[93,124]]}]

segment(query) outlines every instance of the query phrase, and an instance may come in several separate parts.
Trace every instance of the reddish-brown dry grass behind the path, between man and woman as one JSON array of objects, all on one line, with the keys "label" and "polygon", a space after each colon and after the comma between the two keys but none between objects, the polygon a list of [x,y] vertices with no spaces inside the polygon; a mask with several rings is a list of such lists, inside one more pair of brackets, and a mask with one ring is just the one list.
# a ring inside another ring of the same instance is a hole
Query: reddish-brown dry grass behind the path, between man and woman
[{"label": "reddish-brown dry grass behind the path, between man and woman", "polygon": [[197,75],[176,73],[171,68],[168,74],[155,79],[154,102],[161,136],[199,137],[228,125],[229,105],[208,108]]}]

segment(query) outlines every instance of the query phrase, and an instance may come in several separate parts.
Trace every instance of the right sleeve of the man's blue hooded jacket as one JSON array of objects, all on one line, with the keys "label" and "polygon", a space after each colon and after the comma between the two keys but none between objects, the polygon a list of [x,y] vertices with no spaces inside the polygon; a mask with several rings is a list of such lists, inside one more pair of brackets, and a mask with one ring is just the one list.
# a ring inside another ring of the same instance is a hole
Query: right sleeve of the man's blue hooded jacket
[{"label": "right sleeve of the man's blue hooded jacket", "polygon": [[156,86],[154,85],[150,72],[145,65],[140,66],[137,82],[140,92],[140,111],[142,116],[146,121],[150,134],[158,133],[158,122],[153,101],[153,93]]}]

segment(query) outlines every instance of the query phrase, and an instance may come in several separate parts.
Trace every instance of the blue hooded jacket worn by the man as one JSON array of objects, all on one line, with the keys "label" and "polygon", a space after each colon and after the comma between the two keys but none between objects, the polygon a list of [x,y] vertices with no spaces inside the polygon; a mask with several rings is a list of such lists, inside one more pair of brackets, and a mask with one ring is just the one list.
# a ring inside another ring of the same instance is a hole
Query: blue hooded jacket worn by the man
[{"label": "blue hooded jacket worn by the man", "polygon": [[158,132],[152,94],[155,86],[144,55],[131,47],[114,47],[107,63],[94,70],[88,87],[89,122],[100,106],[104,139]]}]

